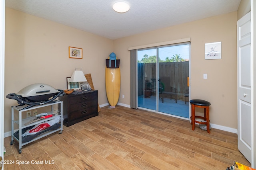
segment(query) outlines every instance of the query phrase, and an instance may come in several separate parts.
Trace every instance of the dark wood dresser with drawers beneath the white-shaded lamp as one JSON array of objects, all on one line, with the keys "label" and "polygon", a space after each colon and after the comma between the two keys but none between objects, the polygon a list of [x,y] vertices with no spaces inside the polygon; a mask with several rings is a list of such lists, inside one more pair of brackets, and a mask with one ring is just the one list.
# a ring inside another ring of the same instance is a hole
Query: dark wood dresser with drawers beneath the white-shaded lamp
[{"label": "dark wood dresser with drawers beneath the white-shaded lamp", "polygon": [[98,115],[98,91],[91,90],[83,94],[65,94],[63,101],[63,125],[70,126]]}]

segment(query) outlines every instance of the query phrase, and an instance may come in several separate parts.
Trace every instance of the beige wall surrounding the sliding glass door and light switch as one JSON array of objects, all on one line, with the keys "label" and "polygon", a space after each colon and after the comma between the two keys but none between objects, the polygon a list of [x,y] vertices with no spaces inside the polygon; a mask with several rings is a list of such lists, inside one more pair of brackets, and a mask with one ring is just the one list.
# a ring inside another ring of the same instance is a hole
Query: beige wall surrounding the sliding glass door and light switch
[{"label": "beige wall surrounding the sliding glass door and light switch", "polygon": [[[121,59],[121,91],[130,104],[130,52],[128,47],[191,38],[191,99],[209,101],[213,124],[237,129],[237,12],[114,40],[114,52]],[[222,59],[204,60],[204,44],[222,42]],[[208,79],[203,79],[203,74]]]}]

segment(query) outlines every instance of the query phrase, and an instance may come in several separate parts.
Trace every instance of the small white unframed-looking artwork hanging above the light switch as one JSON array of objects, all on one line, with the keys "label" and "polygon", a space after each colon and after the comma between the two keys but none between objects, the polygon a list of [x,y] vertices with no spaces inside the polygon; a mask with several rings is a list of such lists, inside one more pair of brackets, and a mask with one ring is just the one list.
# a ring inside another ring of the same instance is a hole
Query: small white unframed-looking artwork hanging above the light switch
[{"label": "small white unframed-looking artwork hanging above the light switch", "polygon": [[221,59],[221,42],[206,43],[204,59]]}]

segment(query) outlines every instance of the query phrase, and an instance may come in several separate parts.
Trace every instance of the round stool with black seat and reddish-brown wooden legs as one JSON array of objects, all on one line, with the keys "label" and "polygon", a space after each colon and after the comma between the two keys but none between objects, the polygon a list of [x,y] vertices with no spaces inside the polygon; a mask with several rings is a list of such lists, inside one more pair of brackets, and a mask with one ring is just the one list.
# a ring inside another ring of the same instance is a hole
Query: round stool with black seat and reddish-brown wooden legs
[{"label": "round stool with black seat and reddish-brown wooden legs", "polygon": [[[206,125],[207,132],[210,133],[210,115],[209,115],[209,106],[211,105],[210,102],[207,102],[205,100],[200,99],[193,99],[189,101],[191,104],[191,124],[192,124],[192,130],[195,129],[195,123]],[[202,116],[196,116],[195,115],[195,107],[204,108],[204,117]],[[206,122],[196,121],[196,117],[204,119]]]}]

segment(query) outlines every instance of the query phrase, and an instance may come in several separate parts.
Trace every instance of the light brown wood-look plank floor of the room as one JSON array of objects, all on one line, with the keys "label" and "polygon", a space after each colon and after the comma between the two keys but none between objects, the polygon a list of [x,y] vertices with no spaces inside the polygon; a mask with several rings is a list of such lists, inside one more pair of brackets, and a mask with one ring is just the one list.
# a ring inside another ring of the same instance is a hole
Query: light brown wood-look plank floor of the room
[{"label": "light brown wood-look plank floor of the room", "polygon": [[189,121],[167,115],[102,107],[97,117],[64,126],[62,134],[25,145],[21,154],[18,143],[10,146],[11,137],[5,138],[4,159],[14,164],[4,169],[226,170],[234,160],[250,166],[237,149],[236,134],[191,128]]}]

